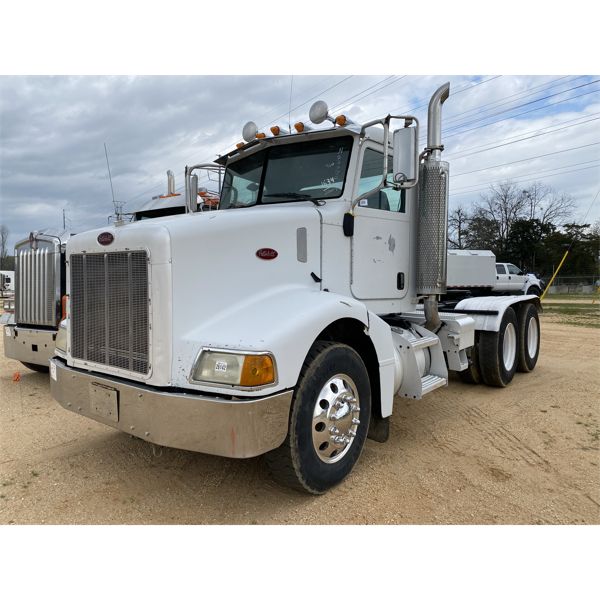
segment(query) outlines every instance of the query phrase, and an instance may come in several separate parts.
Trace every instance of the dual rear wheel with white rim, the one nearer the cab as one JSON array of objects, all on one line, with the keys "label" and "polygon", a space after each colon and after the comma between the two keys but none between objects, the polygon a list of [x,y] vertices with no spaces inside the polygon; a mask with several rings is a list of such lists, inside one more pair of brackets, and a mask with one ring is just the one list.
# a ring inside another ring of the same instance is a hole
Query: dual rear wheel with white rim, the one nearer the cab
[{"label": "dual rear wheel with white rim, the one nearer the cab", "polygon": [[479,334],[479,368],[486,385],[505,387],[517,370],[518,325],[515,311],[508,307],[499,331]]}]

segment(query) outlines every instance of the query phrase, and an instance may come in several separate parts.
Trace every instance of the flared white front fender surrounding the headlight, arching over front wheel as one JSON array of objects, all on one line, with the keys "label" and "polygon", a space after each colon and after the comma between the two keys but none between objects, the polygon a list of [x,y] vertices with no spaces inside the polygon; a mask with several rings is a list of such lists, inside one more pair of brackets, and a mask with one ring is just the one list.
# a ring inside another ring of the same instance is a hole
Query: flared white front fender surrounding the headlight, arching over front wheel
[{"label": "flared white front fender surrounding the headlight, arching over front wheel", "polygon": [[[356,319],[365,327],[367,309],[358,300],[300,286],[269,288],[213,312],[189,330],[173,348],[173,385],[236,396],[264,396],[293,388],[304,359],[321,331],[339,319]],[[269,351],[276,361],[277,382],[257,391],[192,384],[193,364],[203,347]]]}]

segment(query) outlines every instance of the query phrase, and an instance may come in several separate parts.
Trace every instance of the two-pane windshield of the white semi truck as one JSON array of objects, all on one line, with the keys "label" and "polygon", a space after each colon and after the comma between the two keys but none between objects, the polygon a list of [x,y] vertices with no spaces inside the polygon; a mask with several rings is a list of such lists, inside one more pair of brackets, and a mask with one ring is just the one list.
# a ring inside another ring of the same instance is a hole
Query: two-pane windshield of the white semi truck
[{"label": "two-pane windshield of the white semi truck", "polygon": [[272,146],[227,167],[220,209],[339,198],[352,137]]}]

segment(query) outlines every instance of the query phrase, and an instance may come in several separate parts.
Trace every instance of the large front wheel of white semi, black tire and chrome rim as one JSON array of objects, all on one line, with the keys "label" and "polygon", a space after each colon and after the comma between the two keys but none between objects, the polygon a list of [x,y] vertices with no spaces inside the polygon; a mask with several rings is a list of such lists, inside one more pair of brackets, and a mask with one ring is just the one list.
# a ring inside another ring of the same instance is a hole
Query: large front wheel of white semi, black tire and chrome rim
[{"label": "large front wheel of white semi, black tire and chrome rim", "polygon": [[316,342],[300,372],[287,438],[267,464],[280,483],[322,494],[352,470],[371,415],[369,374],[345,344]]}]

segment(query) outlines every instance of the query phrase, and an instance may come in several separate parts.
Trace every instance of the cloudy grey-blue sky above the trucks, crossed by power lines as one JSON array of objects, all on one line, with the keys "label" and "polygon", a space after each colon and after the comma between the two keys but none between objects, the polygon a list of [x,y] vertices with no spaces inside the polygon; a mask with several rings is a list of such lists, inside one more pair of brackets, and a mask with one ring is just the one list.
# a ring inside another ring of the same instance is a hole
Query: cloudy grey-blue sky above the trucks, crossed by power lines
[{"label": "cloudy grey-blue sky above the trucks, crossed by power lines", "polygon": [[[131,211],[165,192],[167,169],[180,188],[186,164],[230,150],[248,120],[287,126],[323,99],[359,122],[410,112],[425,124],[446,80],[452,205],[469,206],[493,182],[543,181],[571,194],[582,220],[600,187],[600,77],[389,74],[0,77],[0,220],[11,247],[30,230],[61,228],[63,209],[73,231],[106,223],[104,143],[116,199]],[[600,202],[586,220],[598,218]]]}]

